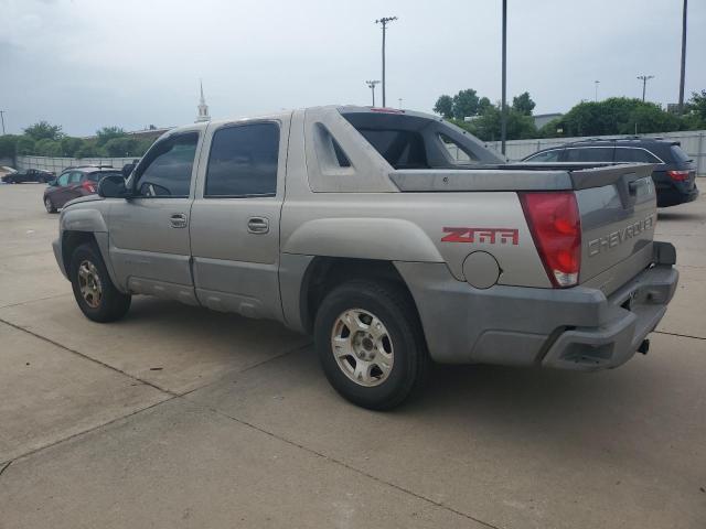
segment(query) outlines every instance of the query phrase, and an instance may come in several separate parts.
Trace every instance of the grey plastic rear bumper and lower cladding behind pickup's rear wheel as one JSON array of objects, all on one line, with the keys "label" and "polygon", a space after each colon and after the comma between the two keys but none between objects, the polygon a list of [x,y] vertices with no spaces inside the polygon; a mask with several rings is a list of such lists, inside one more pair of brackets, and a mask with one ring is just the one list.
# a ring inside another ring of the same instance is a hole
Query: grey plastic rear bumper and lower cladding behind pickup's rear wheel
[{"label": "grey plastic rear bumper and lower cladding behind pickup's rear wheel", "polygon": [[672,245],[655,242],[655,264],[608,298],[585,287],[479,290],[454,280],[445,264],[396,266],[435,360],[595,370],[630,359],[664,316],[678,272]]}]

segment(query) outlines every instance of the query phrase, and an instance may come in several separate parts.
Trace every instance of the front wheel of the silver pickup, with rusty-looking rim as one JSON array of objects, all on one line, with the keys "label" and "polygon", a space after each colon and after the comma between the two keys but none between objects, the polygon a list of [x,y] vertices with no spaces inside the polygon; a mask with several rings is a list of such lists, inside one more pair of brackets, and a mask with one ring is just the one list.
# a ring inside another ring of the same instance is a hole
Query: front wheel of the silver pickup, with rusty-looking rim
[{"label": "front wheel of the silver pickup, with rusty-looking rim", "polygon": [[74,250],[68,270],[74,298],[88,320],[107,323],[125,316],[132,296],[115,288],[94,244],[84,244]]}]

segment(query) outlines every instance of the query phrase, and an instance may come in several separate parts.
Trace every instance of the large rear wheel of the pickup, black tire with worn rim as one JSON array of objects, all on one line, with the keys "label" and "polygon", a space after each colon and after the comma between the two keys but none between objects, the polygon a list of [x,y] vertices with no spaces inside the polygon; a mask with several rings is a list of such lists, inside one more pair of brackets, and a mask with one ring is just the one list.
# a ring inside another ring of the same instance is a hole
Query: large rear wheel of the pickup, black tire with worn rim
[{"label": "large rear wheel of the pickup, black tire with worn rim", "polygon": [[[377,323],[383,331],[377,326],[375,335],[364,330]],[[334,338],[342,345],[334,347]],[[314,345],[331,386],[371,410],[389,410],[418,392],[430,361],[409,294],[382,281],[349,281],[329,292],[317,312]]]}]

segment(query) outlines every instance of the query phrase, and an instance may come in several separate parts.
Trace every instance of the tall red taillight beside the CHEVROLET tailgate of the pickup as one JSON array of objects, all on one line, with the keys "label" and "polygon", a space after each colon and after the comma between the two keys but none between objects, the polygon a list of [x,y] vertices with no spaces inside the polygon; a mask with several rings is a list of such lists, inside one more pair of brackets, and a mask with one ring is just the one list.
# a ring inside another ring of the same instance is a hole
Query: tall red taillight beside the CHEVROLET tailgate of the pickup
[{"label": "tall red taillight beside the CHEVROLET tailgate of the pickup", "polygon": [[520,193],[522,208],[549,281],[557,288],[578,283],[581,222],[573,192]]}]

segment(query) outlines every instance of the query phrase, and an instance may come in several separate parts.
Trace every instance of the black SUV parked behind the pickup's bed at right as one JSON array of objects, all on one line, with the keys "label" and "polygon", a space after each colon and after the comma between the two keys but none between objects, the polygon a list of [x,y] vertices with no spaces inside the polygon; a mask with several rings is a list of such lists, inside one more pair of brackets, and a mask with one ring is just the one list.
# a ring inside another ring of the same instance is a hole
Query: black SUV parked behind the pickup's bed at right
[{"label": "black SUV parked behind the pickup's bed at right", "polygon": [[678,141],[655,138],[584,140],[543,149],[522,161],[654,163],[652,180],[657,192],[657,206],[674,206],[698,196],[696,168]]}]

